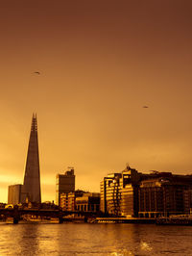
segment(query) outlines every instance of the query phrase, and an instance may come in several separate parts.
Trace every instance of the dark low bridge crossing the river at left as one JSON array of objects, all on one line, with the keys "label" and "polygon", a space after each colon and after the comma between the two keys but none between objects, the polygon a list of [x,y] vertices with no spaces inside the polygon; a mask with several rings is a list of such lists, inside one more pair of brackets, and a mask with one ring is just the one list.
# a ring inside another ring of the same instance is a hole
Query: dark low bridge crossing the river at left
[{"label": "dark low bridge crossing the river at left", "polygon": [[40,218],[58,218],[59,222],[63,222],[66,216],[82,216],[87,218],[104,217],[102,213],[82,212],[82,211],[62,211],[61,209],[33,209],[33,208],[2,208],[0,209],[0,216],[3,219],[13,218],[13,223],[18,223],[25,216],[34,216]]}]

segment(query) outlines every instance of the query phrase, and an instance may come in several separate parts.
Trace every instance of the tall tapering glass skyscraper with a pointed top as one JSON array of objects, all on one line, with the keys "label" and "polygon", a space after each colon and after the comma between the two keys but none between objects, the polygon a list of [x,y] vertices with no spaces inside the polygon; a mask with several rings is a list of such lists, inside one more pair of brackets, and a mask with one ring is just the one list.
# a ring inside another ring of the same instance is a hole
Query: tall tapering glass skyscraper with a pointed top
[{"label": "tall tapering glass skyscraper with a pointed top", "polygon": [[28,198],[31,202],[41,202],[36,114],[33,114],[32,117],[24,185],[22,189],[22,202],[25,202],[26,198]]}]

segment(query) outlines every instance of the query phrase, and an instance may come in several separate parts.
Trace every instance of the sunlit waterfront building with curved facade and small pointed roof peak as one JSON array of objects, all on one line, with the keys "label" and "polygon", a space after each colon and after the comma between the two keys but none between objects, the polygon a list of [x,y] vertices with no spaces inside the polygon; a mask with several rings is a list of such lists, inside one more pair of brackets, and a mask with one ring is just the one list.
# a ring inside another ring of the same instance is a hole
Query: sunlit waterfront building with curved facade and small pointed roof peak
[{"label": "sunlit waterfront building with curved facade and small pointed roof peak", "polygon": [[138,172],[128,166],[101,182],[100,209],[115,216],[137,216]]}]

